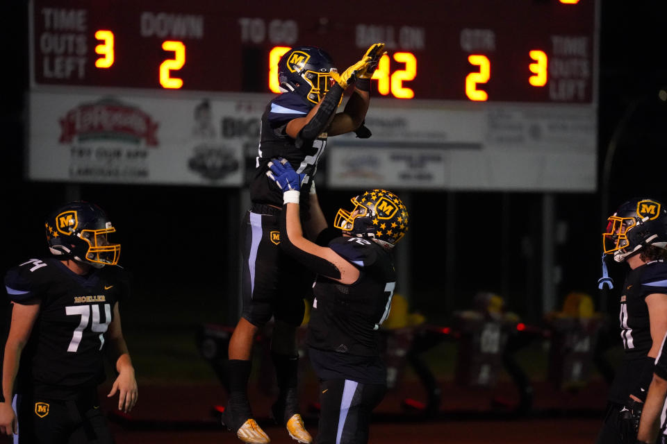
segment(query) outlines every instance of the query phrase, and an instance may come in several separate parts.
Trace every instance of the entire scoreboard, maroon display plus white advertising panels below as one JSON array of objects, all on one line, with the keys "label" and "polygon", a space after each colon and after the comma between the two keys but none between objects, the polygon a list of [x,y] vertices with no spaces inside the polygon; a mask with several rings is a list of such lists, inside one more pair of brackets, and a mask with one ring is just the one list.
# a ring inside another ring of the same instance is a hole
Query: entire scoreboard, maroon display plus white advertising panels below
[{"label": "entire scoreboard, maroon display plus white advertising panels below", "polygon": [[28,178],[242,187],[281,56],[384,42],[373,135],[332,137],[318,185],[594,191],[599,8],[30,0]]}]

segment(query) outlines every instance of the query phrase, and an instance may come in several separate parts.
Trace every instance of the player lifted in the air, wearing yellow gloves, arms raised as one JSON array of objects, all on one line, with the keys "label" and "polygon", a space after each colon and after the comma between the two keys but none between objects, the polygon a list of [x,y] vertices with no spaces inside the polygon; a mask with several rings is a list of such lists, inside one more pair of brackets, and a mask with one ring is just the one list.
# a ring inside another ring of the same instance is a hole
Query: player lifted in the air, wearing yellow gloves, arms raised
[{"label": "player lifted in the air, wearing yellow gloves, arms raised", "polygon": [[[370,101],[370,78],[384,44],[370,46],[363,58],[338,73],[331,57],[315,46],[298,46],[278,63],[283,94],[267,104],[262,115],[261,139],[254,177],[252,205],[240,228],[242,250],[242,315],[229,341],[229,400],[223,424],[245,443],[268,443],[254,420],[247,397],[252,345],[258,330],[274,320],[271,356],[279,395],[272,416],[301,443],[313,438],[304,427],[297,399],[297,327],[304,318],[304,298],[312,294],[313,275],[279,248],[278,221],[282,191],[267,178],[268,163],[284,157],[302,175],[301,212],[304,230],[314,239],[327,226],[315,192],[315,171],[327,137],[356,132],[370,136],[363,126]],[[346,89],[353,89],[342,112],[336,112]]]}]

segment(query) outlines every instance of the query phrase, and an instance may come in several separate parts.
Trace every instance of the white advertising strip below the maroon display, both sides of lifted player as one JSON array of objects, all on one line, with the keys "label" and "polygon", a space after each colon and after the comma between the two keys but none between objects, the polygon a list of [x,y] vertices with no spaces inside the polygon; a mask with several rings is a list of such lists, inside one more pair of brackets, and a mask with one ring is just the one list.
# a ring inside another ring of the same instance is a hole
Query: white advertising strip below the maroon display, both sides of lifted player
[{"label": "white advertising strip below the maroon display, both sides of lifted player", "polygon": [[[242,187],[270,97],[31,92],[28,177]],[[372,102],[370,138],[329,139],[322,185],[595,190],[592,105]]]}]

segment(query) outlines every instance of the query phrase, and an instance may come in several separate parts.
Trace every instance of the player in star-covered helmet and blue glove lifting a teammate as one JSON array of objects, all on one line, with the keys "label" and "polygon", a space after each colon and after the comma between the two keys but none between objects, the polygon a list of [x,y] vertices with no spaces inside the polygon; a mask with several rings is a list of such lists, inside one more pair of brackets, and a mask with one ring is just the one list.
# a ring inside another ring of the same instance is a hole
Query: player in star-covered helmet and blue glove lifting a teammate
[{"label": "player in star-covered helmet and blue glove lifting a teammate", "polygon": [[340,209],[318,244],[304,237],[299,221],[302,176],[284,159],[267,174],[283,192],[281,248],[317,273],[308,322],[308,356],[320,379],[318,444],[368,442],[370,416],[386,391],[386,367],[377,330],[387,318],[396,283],[391,250],[408,230],[398,196],[373,189]]}]

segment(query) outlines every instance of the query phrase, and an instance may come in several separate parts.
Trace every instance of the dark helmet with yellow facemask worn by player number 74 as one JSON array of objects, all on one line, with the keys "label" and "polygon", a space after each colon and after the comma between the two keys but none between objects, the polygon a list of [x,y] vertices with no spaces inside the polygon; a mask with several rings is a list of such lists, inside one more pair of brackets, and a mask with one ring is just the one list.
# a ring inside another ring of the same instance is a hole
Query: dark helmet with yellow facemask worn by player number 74
[{"label": "dark helmet with yellow facemask worn by player number 74", "polygon": [[71,257],[95,268],[118,263],[120,244],[111,244],[108,239],[108,234],[116,229],[94,203],[67,203],[54,211],[44,225],[53,255]]}]

